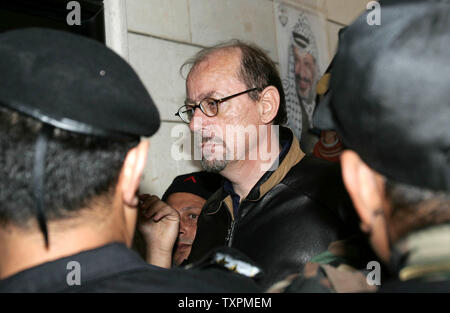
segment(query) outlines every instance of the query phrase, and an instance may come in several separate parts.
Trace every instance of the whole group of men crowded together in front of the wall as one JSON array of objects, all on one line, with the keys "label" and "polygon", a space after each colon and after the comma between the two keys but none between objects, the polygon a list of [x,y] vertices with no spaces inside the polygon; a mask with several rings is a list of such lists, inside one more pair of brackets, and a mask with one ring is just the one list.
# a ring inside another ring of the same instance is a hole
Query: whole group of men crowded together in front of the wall
[{"label": "whole group of men crowded together in front of the wall", "polygon": [[284,126],[264,51],[202,49],[176,115],[205,172],[159,199],[139,193],[160,119],[132,68],[70,33],[1,34],[0,292],[449,291],[448,51],[445,1],[352,23],[314,117],[342,141],[330,162]]}]

